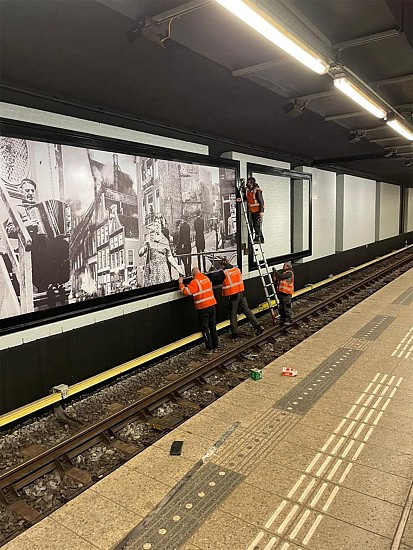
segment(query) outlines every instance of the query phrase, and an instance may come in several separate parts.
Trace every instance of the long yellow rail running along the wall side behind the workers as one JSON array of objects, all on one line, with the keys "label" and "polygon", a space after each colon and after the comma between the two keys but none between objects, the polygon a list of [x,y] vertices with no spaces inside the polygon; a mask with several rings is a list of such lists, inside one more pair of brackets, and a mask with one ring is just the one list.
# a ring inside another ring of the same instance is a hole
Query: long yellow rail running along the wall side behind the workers
[{"label": "long yellow rail running along the wall side behind the workers", "polygon": [[[355,273],[356,271],[359,271],[360,269],[363,269],[365,267],[368,267],[369,265],[373,265],[379,261],[385,260],[386,258],[389,258],[390,256],[394,256],[395,254],[401,252],[402,250],[406,250],[407,248],[411,248],[413,245],[409,245],[407,247],[403,247],[399,250],[394,250],[393,252],[390,252],[389,254],[386,254],[385,256],[380,256],[379,258],[375,258],[374,260],[371,260],[370,262],[367,262],[365,264],[361,264],[357,267],[352,267],[348,269],[347,271],[343,271],[342,273],[339,273],[338,275],[334,275],[333,277],[329,277],[328,279],[324,279],[323,281],[319,281],[318,283],[308,285],[297,292],[294,293],[294,297],[301,296],[303,294],[306,294],[307,292],[311,292],[312,290],[322,287],[326,284],[331,283],[331,281],[341,279],[342,277],[345,277],[346,275],[349,275],[350,273]],[[272,305],[275,305],[275,301],[272,302]],[[264,302],[262,304],[259,304],[256,308],[254,308],[252,311],[254,313],[260,313],[262,311],[265,311],[268,309],[267,302]],[[238,319],[245,319],[245,315],[238,315]],[[217,324],[217,330],[222,330],[223,328],[226,328],[229,326],[229,320],[222,321],[221,323]],[[107,371],[101,372],[100,374],[96,374],[95,376],[92,376],[91,378],[87,378],[86,380],[82,380],[82,382],[78,382],[76,384],[73,384],[72,386],[69,386],[68,388],[68,396],[76,395],[79,392],[85,391],[87,389],[92,388],[93,386],[96,386],[97,384],[101,384],[102,382],[105,382],[107,380],[110,380],[111,378],[114,378],[115,376],[119,376],[120,374],[123,374],[125,372],[128,372],[131,369],[134,369],[136,367],[142,366],[149,361],[152,361],[154,359],[161,358],[162,356],[171,353],[172,351],[175,351],[179,348],[182,348],[185,345],[191,344],[193,342],[196,342],[197,340],[200,340],[202,338],[202,334],[200,332],[195,332],[194,334],[191,334],[190,336],[186,336],[185,338],[182,338],[181,340],[177,340],[176,342],[172,342],[171,344],[168,344],[166,346],[163,346],[162,348],[159,348],[157,350],[151,351],[149,353],[146,353],[145,355],[141,355],[140,357],[137,357],[136,359],[132,359],[130,361],[127,361],[126,363],[122,363],[121,365],[118,365],[117,367],[113,367],[112,369],[109,369]],[[9,411],[8,413],[5,413],[0,416],[0,427],[7,426],[7,424],[10,424],[12,422],[16,422],[25,416],[29,414],[33,414],[37,411],[40,411],[41,409],[44,409],[46,407],[49,407],[50,405],[54,405],[55,403],[58,403],[59,401],[63,401],[63,397],[60,393],[53,393],[51,395],[47,395],[45,397],[41,397],[37,401],[33,401],[32,403],[27,403],[26,405],[23,405],[22,407],[19,407],[17,409],[14,409],[12,411]]]}]

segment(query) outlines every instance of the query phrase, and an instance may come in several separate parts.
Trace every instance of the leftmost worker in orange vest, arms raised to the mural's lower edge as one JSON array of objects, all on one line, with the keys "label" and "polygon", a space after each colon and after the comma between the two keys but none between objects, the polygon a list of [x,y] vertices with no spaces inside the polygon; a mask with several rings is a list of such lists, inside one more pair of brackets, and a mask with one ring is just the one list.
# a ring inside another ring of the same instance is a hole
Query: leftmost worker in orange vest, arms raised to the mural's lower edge
[{"label": "leftmost worker in orange vest, arms raised to the mural's lower edge", "polygon": [[216,352],[218,349],[218,333],[216,329],[216,308],[212,290],[212,283],[206,275],[194,267],[192,268],[193,279],[188,285],[184,285],[183,278],[179,277],[179,290],[185,296],[192,296],[194,306],[198,312],[199,325],[205,342],[206,355]]}]

